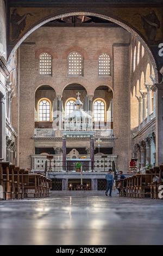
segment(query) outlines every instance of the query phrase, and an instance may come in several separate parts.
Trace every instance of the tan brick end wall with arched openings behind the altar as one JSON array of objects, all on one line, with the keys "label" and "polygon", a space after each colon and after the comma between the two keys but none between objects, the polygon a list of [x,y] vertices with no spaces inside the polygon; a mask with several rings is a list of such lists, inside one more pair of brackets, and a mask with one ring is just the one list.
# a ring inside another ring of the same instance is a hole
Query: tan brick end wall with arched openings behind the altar
[{"label": "tan brick end wall with arched openings behind the altar", "polygon": [[[113,88],[114,133],[118,138],[115,141],[114,153],[118,154],[118,169],[128,168],[129,134],[126,128],[129,125],[130,113],[129,42],[130,34],[123,28],[41,27],[27,38],[20,47],[19,158],[21,167],[32,167],[30,155],[35,152],[34,141],[31,138],[34,135],[36,88],[49,85],[54,88],[56,94],[62,94],[66,85],[76,83],[83,85],[91,95],[101,85]],[[53,56],[53,75],[41,76],[38,57],[43,49],[47,48]],[[79,51],[83,54],[83,77],[67,76],[67,55],[70,51]],[[97,58],[103,52],[108,52],[112,60],[112,76],[108,78],[98,77]],[[95,96],[97,97],[97,92]]]}]

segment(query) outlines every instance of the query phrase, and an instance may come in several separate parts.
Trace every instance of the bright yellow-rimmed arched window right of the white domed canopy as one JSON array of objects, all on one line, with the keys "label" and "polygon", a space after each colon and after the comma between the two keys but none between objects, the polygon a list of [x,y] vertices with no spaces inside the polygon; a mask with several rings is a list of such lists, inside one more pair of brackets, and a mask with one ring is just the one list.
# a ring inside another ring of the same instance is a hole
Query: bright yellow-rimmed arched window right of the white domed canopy
[{"label": "bright yellow-rimmed arched window right of the white domed canopy", "polygon": [[104,99],[97,98],[93,102],[93,120],[106,122],[106,103]]}]

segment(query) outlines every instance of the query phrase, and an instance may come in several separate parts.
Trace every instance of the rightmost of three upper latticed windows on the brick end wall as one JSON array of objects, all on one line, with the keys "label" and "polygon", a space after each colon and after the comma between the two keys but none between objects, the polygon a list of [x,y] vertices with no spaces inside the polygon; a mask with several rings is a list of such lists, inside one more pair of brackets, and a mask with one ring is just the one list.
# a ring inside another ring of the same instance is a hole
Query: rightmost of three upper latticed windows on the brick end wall
[{"label": "rightmost of three upper latticed windows on the brick end wall", "polygon": [[110,57],[106,53],[103,53],[98,58],[98,75],[99,76],[111,75]]}]

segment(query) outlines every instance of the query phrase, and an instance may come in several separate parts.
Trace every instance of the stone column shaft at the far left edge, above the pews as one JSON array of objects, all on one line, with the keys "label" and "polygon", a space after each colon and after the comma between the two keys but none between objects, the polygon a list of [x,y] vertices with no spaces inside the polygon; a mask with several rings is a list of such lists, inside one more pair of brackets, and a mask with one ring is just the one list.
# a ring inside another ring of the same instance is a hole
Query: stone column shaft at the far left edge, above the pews
[{"label": "stone column shaft at the far left edge, above the pews", "polygon": [[0,92],[0,160],[4,160],[5,150],[5,106],[4,106],[4,95]]}]

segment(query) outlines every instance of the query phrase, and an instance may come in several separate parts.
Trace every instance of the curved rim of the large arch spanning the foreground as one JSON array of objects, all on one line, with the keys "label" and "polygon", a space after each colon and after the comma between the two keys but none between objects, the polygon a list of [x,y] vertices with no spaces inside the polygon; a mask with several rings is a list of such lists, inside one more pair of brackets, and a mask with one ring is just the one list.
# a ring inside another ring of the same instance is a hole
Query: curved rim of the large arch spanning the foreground
[{"label": "curved rim of the large arch spanning the foreground", "polygon": [[[111,22],[117,23],[118,25],[120,25],[121,27],[125,28],[128,32],[130,32],[131,34],[135,35],[136,38],[138,40],[140,40],[140,43],[146,47],[146,50],[149,53],[149,56],[152,59],[152,64],[154,69],[159,69],[160,67],[157,66],[157,63],[155,61],[154,55],[152,53],[152,50],[149,48],[149,45],[147,44],[147,41],[145,40],[145,38],[143,38],[142,34],[140,33],[140,31],[137,31],[135,28],[133,28],[133,26],[129,23],[127,23],[126,21],[122,21],[119,19],[119,17],[116,17],[115,15],[112,14],[108,14],[108,15],[104,15],[101,13],[96,13],[94,11],[68,11],[67,13],[65,13],[64,11],[60,11],[60,13],[57,13],[56,15],[52,15],[52,16],[48,16],[45,17],[43,20],[40,20],[40,22],[37,22],[36,24],[34,24],[32,26],[32,28],[30,28],[27,32],[25,32],[22,37],[17,41],[17,43],[15,44],[15,46],[12,48],[11,52],[10,52],[10,56],[9,59],[12,56],[12,53],[15,52],[18,48],[18,46],[20,46],[20,44],[32,33],[34,32],[37,28],[41,27],[42,25],[44,25],[45,23],[52,21],[52,20],[56,20],[56,19],[60,19],[61,17],[66,17],[66,16],[73,16],[73,15],[88,15],[88,16],[97,16],[97,17],[101,17],[102,19],[105,20],[109,20]],[[156,74],[156,82],[158,82],[158,73]]]}]

